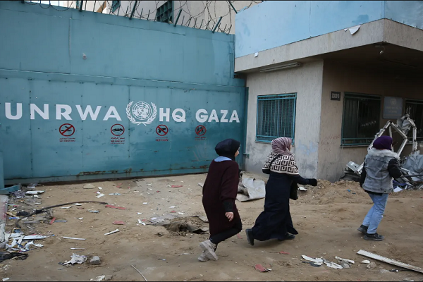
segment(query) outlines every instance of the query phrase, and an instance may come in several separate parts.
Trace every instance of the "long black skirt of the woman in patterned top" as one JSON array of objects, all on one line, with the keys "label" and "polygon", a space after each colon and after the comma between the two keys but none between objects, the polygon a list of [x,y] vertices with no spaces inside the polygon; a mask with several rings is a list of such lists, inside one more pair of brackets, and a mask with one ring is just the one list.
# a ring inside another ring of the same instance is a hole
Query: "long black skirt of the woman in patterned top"
[{"label": "long black skirt of the woman in patterned top", "polygon": [[287,233],[298,234],[289,211],[290,184],[293,179],[281,173],[271,173],[266,184],[264,211],[257,217],[252,235],[255,240],[286,238]]}]

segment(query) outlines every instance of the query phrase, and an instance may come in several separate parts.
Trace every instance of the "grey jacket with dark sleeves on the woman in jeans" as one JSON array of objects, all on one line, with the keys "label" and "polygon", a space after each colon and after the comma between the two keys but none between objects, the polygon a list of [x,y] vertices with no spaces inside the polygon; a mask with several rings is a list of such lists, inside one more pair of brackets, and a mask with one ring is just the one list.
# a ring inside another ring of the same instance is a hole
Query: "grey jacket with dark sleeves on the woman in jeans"
[{"label": "grey jacket with dark sleeves on the woman in jeans", "polygon": [[402,175],[399,159],[398,154],[390,150],[369,149],[360,180],[362,188],[373,193],[393,192],[392,178]]}]

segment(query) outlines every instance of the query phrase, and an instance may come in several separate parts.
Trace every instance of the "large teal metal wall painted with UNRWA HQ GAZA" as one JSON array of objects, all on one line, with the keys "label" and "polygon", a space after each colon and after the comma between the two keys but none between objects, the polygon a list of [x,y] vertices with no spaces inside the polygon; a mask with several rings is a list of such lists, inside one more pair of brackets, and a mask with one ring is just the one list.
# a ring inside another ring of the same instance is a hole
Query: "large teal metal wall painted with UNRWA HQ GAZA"
[{"label": "large teal metal wall painted with UNRWA HQ GAZA", "polygon": [[20,1],[0,24],[6,184],[207,172],[244,140],[233,35]]}]

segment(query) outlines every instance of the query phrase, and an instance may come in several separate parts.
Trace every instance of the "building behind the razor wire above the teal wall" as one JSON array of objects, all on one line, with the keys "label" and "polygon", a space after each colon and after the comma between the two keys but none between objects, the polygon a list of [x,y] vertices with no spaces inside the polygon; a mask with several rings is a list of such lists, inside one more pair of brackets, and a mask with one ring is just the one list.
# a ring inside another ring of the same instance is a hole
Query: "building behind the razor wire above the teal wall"
[{"label": "building behind the razor wire above the teal wall", "polygon": [[[231,2],[231,4],[229,3]],[[235,10],[250,8],[262,1],[83,1],[82,9],[99,13],[130,16],[211,30],[222,17],[218,32],[235,34]],[[81,1],[64,1],[64,6],[79,8]]]}]

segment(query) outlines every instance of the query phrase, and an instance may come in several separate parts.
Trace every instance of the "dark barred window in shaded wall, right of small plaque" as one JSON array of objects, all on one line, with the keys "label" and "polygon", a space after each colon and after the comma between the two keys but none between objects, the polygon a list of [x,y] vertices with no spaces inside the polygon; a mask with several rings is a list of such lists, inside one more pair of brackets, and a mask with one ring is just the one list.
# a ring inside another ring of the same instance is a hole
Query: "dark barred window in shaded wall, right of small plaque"
[{"label": "dark barred window in shaded wall, right of small plaque", "polygon": [[380,117],[381,97],[345,92],[342,145],[370,145],[380,130]]}]

